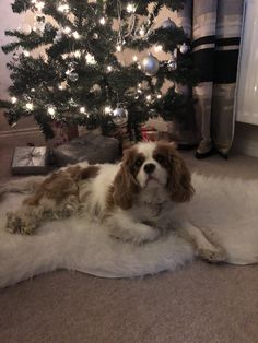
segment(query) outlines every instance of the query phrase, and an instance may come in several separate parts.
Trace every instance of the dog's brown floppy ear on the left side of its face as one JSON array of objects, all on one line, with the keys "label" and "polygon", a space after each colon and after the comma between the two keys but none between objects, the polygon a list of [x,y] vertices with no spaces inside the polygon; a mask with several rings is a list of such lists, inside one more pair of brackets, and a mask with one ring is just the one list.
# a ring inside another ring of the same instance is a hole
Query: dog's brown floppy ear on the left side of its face
[{"label": "dog's brown floppy ear on the left side of its face", "polygon": [[128,149],[126,151],[120,169],[113,184],[114,203],[122,210],[128,210],[132,206],[133,196],[139,191],[139,184],[137,182],[131,168],[133,154],[133,149]]}]

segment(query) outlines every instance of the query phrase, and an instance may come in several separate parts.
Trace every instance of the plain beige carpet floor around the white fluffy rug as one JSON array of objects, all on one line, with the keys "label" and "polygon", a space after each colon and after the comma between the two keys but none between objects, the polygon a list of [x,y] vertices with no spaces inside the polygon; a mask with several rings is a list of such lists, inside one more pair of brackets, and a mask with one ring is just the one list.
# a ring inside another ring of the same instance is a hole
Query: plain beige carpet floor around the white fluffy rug
[{"label": "plain beige carpet floor around the white fluffy rug", "polygon": [[[10,177],[15,144],[0,141],[1,180]],[[206,175],[258,178],[256,158],[233,153],[228,161],[199,162],[194,152],[183,155]],[[0,291],[0,342],[256,343],[258,265],[196,261],[137,280],[42,275]]]}]

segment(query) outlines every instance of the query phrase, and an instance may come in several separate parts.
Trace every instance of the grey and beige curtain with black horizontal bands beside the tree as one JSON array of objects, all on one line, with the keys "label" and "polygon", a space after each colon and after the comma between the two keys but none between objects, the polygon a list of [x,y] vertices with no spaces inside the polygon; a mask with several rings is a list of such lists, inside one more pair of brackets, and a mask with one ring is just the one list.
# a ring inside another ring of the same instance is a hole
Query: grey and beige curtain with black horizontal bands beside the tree
[{"label": "grey and beige curtain with black horizontal bands beside the tree", "polygon": [[224,157],[234,137],[234,97],[244,0],[186,0],[179,13],[191,36],[199,84],[194,88],[197,158]]}]

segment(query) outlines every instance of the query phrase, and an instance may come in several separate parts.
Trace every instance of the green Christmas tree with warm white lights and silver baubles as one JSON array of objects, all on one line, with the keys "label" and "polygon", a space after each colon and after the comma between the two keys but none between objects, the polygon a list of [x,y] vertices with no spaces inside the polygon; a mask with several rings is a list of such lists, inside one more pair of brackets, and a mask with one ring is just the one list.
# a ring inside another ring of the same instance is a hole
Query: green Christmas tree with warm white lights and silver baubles
[{"label": "green Christmas tree with warm white lights and silver baubles", "polygon": [[[196,81],[190,40],[169,17],[157,27],[164,7],[177,11],[184,1],[15,0],[13,12],[32,11],[35,24],[5,32],[17,38],[2,47],[13,54],[10,100],[0,102],[9,123],[34,116],[51,138],[52,121],[101,127],[104,134],[127,122],[139,138],[149,117],[185,120],[192,100],[178,84]],[[168,58],[159,60],[159,50]]]}]

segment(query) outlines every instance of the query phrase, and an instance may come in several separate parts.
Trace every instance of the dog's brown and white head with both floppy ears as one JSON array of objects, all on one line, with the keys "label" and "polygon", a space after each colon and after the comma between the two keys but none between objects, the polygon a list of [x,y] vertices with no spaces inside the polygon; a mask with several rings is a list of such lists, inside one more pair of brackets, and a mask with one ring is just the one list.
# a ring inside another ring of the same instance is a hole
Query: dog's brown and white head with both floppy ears
[{"label": "dog's brown and white head with both floppy ears", "polygon": [[175,202],[194,194],[190,173],[173,144],[148,142],[127,150],[114,180],[115,204],[130,209],[142,189],[157,187],[167,189]]}]

